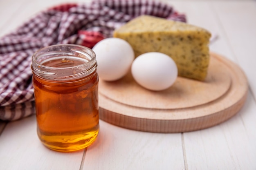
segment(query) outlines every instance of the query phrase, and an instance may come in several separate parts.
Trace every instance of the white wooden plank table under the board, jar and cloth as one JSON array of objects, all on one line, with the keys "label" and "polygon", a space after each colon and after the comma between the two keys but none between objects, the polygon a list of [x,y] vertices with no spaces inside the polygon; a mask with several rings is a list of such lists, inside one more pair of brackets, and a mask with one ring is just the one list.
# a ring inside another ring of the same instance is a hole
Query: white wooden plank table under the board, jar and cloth
[{"label": "white wooden plank table under the board, jar and cloth", "polygon": [[[0,0],[0,35],[61,2]],[[35,116],[0,121],[0,170],[256,170],[256,1],[168,3],[186,13],[189,23],[218,35],[211,51],[245,71],[249,95],[237,115],[212,128],[175,134],[139,132],[100,121],[97,141],[73,153],[45,148],[36,135]]]}]

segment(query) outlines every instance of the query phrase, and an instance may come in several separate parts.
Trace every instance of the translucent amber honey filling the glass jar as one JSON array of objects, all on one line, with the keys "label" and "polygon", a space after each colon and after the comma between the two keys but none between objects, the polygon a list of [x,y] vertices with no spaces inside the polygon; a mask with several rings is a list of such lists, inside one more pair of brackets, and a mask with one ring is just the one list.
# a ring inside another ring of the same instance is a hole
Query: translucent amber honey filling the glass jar
[{"label": "translucent amber honey filling the glass jar", "polygon": [[[54,60],[43,65],[77,66],[82,61]],[[99,132],[98,75],[76,81],[49,81],[33,76],[37,133],[52,150],[70,152],[92,144]]]}]

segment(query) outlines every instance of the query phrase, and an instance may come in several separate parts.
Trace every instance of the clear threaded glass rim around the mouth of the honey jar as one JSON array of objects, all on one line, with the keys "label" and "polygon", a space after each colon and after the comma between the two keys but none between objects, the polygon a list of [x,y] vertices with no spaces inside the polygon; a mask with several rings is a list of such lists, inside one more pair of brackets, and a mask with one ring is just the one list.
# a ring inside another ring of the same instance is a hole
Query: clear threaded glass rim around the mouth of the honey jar
[{"label": "clear threaded glass rim around the mouth of the honey jar", "polygon": [[[63,57],[75,57],[76,60],[81,60],[83,63],[66,67],[54,67],[43,64],[45,61]],[[96,54],[92,49],[76,44],[46,46],[32,55],[31,69],[35,75],[49,79],[66,79],[81,75],[90,75],[90,73],[97,69]],[[70,71],[68,72],[68,70]],[[76,73],[71,74],[71,71],[74,70],[76,70]]]}]

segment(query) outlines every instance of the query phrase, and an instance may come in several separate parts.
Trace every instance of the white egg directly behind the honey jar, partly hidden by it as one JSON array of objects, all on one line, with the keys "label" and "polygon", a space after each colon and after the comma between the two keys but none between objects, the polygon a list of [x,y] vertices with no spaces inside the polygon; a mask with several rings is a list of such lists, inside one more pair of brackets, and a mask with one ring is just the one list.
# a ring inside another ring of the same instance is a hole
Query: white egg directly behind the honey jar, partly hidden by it
[{"label": "white egg directly behind the honey jar, partly hidden by it", "polygon": [[100,79],[115,81],[124,77],[134,60],[134,52],[128,42],[120,38],[106,38],[92,50],[96,54]]}]

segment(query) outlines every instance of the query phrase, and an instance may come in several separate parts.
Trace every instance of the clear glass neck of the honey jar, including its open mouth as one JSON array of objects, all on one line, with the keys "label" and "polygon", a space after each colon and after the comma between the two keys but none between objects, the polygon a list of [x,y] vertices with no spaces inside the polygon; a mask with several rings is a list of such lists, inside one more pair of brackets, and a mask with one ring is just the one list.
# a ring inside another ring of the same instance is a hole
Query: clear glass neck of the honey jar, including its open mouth
[{"label": "clear glass neck of the honey jar, including its open mouth", "polygon": [[84,46],[60,44],[40,49],[32,56],[33,74],[43,79],[80,79],[97,70],[95,53]]}]

